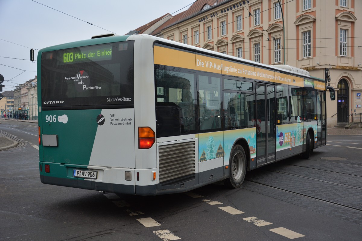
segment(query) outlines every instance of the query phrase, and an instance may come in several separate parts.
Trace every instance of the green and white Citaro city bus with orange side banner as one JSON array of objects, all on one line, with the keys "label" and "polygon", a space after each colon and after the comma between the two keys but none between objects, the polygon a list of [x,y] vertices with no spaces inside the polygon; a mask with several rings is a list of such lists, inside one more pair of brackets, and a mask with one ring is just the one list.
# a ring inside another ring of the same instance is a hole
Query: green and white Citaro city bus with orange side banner
[{"label": "green and white Citaro city bus with orange side banner", "polygon": [[38,93],[45,184],[135,195],[238,187],[247,170],[326,143],[324,80],[150,35],[42,49]]}]

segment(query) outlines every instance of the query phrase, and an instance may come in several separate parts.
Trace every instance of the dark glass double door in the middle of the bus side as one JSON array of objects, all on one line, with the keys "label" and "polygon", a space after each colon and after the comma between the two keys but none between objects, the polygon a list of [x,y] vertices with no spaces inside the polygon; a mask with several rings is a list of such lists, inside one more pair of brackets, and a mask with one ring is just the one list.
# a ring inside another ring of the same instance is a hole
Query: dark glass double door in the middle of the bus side
[{"label": "dark glass double door in the middle of the bus side", "polygon": [[275,85],[256,83],[257,166],[275,161]]}]

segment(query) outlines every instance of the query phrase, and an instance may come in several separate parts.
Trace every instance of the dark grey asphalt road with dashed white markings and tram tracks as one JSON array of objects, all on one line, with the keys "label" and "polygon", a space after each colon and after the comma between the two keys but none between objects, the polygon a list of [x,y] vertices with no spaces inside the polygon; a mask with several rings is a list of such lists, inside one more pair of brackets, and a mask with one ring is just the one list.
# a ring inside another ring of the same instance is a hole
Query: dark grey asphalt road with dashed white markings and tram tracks
[{"label": "dark grey asphalt road with dashed white markings and tram tracks", "polygon": [[3,121],[0,240],[361,240],[362,138],[329,135],[309,160],[247,174],[237,189],[138,197],[45,185],[37,124]]}]

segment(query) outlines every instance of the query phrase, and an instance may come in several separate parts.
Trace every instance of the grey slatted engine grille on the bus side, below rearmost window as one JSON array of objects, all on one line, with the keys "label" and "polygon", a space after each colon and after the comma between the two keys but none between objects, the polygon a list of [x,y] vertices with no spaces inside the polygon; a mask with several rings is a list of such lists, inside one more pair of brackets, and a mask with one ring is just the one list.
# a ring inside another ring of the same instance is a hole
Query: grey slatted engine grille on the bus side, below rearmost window
[{"label": "grey slatted engine grille on the bus side, below rearmost window", "polygon": [[161,185],[182,183],[195,178],[195,142],[159,146]]}]

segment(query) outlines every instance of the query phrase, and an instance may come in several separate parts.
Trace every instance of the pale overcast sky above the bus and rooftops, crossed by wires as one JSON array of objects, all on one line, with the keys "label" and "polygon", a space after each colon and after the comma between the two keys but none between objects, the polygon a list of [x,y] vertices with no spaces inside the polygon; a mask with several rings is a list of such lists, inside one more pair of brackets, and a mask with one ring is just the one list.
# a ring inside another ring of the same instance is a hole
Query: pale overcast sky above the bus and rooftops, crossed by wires
[{"label": "pale overcast sky above the bus and rooftops, crossed by wires", "polygon": [[36,49],[36,60],[37,50],[45,47],[90,39],[109,31],[124,35],[166,13],[175,15],[185,11],[195,0],[35,1],[0,0],[0,74],[5,79],[3,91],[14,90],[15,85],[37,75],[37,62],[30,61],[30,48]]}]

